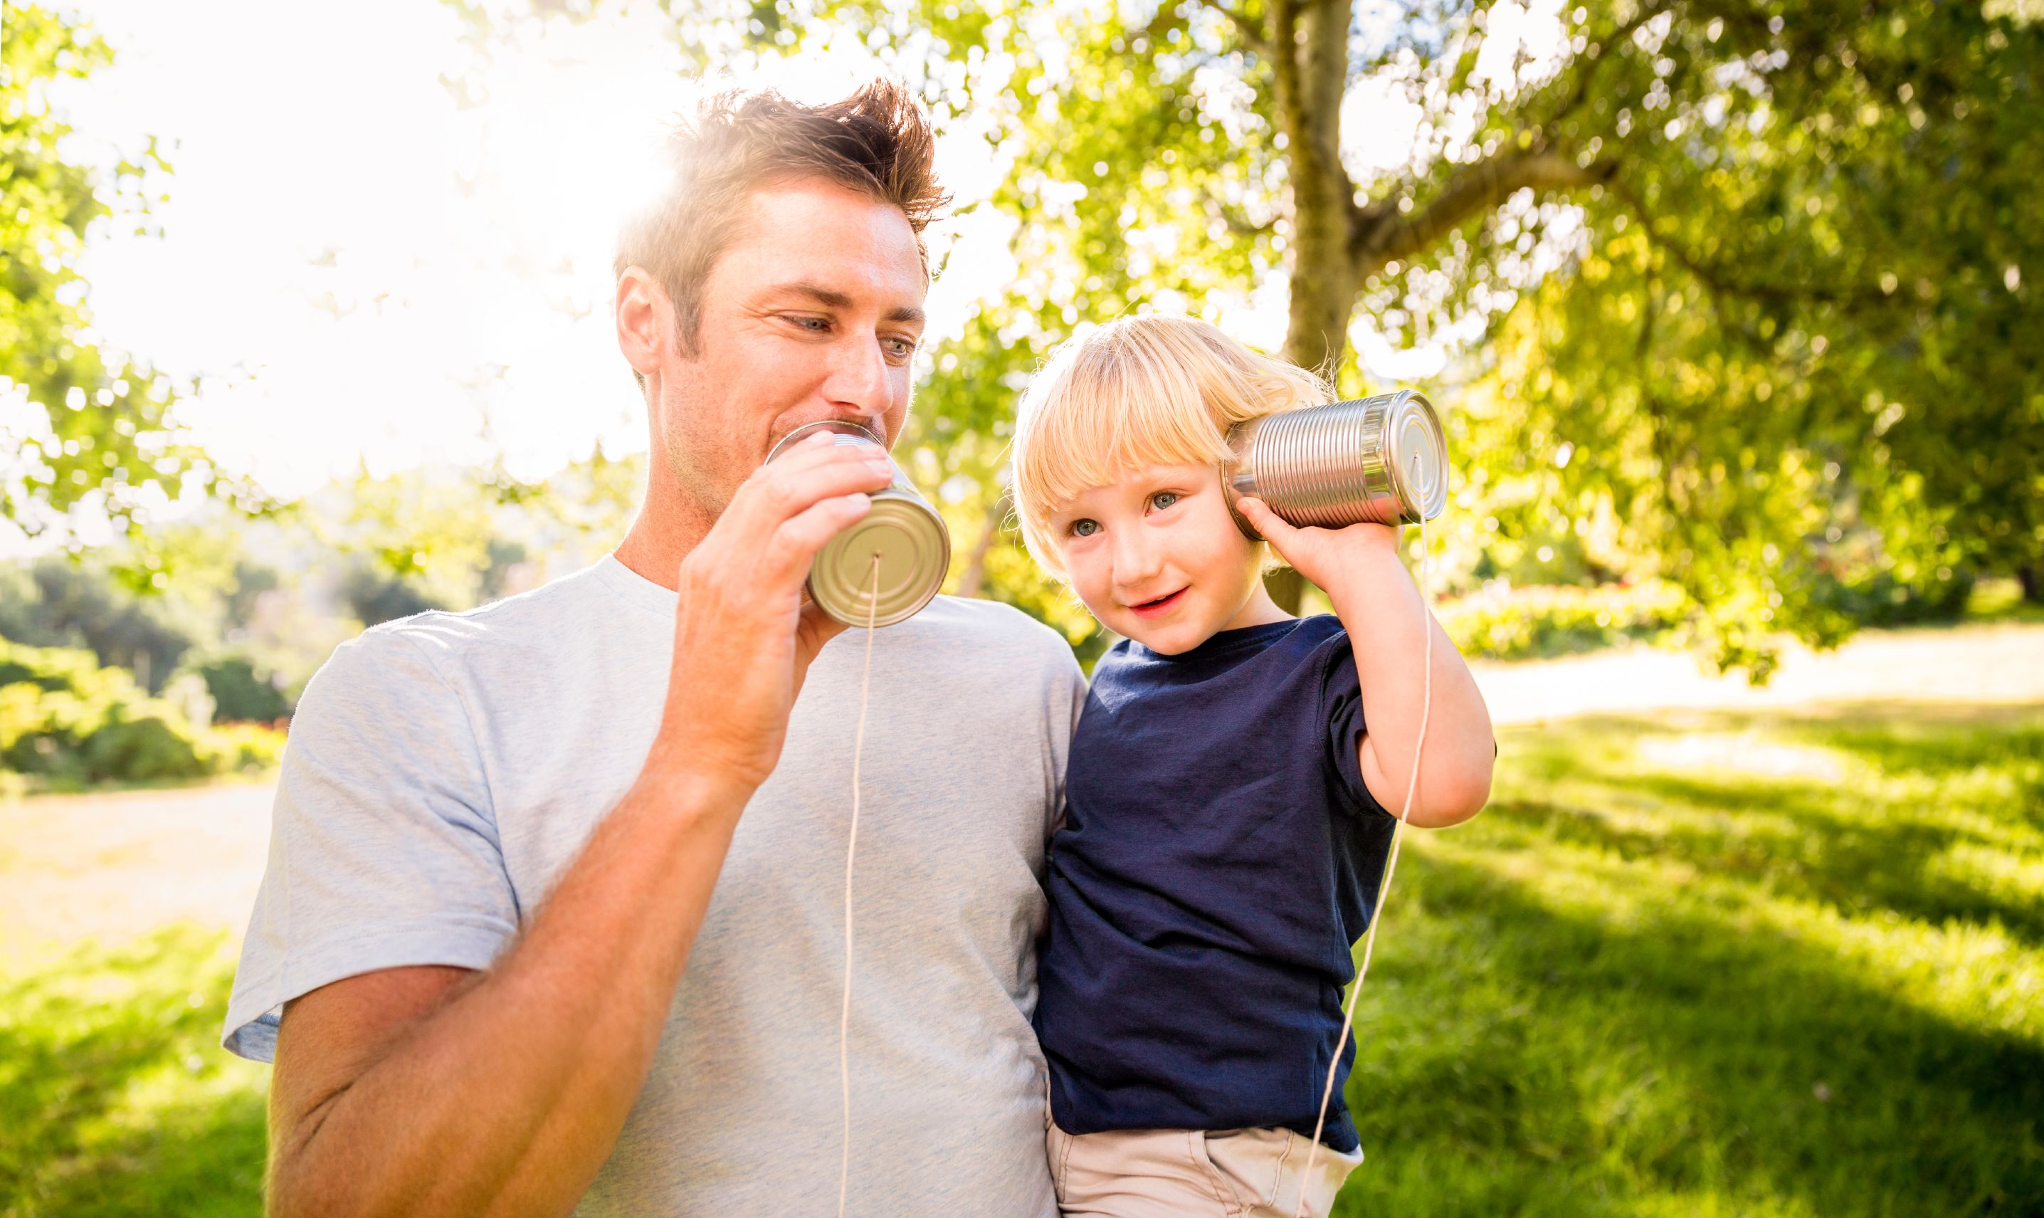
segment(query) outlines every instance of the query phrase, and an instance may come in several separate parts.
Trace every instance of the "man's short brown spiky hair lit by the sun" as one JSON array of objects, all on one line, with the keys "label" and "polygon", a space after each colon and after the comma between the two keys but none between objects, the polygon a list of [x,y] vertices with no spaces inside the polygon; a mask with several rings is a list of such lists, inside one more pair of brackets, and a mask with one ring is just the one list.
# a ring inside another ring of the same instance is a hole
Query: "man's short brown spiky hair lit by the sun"
[{"label": "man's short brown spiky hair lit by the sun", "polygon": [[[617,237],[615,272],[642,266],[675,302],[681,347],[695,354],[703,282],[762,188],[826,178],[901,208],[922,229],[950,202],[932,166],[936,139],[908,88],[875,80],[807,106],[773,90],[730,90],[681,119],[664,145],[666,182]],[[924,262],[928,270],[928,255]]]}]

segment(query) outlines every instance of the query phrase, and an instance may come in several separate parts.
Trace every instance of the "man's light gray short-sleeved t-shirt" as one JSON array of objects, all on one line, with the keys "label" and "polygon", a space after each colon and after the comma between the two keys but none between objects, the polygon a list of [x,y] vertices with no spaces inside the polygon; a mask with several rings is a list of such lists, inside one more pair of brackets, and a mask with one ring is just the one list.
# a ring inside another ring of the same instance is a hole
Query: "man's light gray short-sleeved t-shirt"
[{"label": "man's light gray short-sleeved t-shirt", "polygon": [[[225,1046],[403,965],[486,967],[638,777],[675,593],[613,558],[339,648],[305,693]],[[576,1214],[826,1214],[863,631],[809,666],[646,1087]],[[717,691],[691,691],[715,705]],[[940,597],[873,638],[854,883],[850,1212],[1055,1216],[1030,1032],[1044,842],[1083,678],[1057,634]],[[403,1120],[394,1116],[394,1120]]]}]

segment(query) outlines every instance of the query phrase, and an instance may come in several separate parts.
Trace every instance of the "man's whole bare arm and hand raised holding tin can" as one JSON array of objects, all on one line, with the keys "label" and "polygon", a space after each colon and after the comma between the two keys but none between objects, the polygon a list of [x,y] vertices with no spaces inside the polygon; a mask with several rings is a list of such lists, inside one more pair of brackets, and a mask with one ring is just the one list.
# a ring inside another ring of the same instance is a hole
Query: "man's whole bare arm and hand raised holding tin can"
[{"label": "man's whole bare arm and hand raised holding tin can", "polygon": [[[681,570],[668,703],[638,783],[486,971],[394,969],[290,1005],[270,1212],[566,1214],[644,1083],[738,815],[807,662],[809,558],[887,480],[811,446],[750,478]],[[717,691],[715,699],[691,697]]]}]

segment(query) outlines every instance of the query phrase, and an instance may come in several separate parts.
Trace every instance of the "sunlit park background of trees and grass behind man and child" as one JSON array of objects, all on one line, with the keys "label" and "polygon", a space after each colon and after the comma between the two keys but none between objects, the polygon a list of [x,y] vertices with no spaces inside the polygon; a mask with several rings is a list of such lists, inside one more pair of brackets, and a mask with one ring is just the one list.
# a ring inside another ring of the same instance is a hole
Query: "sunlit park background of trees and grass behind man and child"
[{"label": "sunlit park background of trees and grass behind man and child", "polygon": [[0,1216],[260,1212],[266,1071],[217,1030],[294,699],[615,544],[609,243],[660,121],[875,72],[957,194],[897,448],[950,591],[1106,644],[1002,468],[1083,325],[1190,311],[1443,407],[1431,584],[1502,756],[1400,869],[1341,1214],[2044,1212],[2038,0],[0,33]]}]

